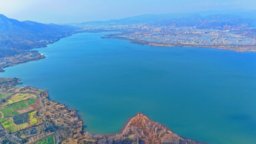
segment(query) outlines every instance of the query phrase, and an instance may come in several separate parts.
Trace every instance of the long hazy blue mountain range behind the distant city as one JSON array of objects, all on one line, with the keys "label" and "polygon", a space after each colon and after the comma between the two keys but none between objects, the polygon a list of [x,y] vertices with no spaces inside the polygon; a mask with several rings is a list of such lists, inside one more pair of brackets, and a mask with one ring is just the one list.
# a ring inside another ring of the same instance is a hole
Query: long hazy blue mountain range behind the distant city
[{"label": "long hazy blue mountain range behind the distant city", "polygon": [[119,20],[82,24],[145,24],[148,26],[189,26],[200,29],[256,28],[256,10],[246,12],[205,11],[194,13],[145,14]]}]

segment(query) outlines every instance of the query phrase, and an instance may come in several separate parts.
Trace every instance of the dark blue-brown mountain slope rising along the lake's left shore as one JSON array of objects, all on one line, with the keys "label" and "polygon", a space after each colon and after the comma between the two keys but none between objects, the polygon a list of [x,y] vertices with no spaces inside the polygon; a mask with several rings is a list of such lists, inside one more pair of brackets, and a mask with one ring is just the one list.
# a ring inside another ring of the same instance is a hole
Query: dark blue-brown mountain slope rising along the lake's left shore
[{"label": "dark blue-brown mountain slope rising along the lake's left shore", "polygon": [[20,22],[0,14],[0,58],[21,54],[34,47],[44,47],[72,32],[72,26]]}]

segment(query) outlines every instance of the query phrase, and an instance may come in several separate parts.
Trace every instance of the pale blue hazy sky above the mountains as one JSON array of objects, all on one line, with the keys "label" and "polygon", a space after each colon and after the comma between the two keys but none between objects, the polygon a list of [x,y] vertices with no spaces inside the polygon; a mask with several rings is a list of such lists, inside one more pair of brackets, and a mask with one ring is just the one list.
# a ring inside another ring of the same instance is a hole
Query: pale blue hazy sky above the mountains
[{"label": "pale blue hazy sky above the mountains", "polygon": [[9,18],[56,24],[234,9],[256,9],[256,0],[0,0],[0,14]]}]

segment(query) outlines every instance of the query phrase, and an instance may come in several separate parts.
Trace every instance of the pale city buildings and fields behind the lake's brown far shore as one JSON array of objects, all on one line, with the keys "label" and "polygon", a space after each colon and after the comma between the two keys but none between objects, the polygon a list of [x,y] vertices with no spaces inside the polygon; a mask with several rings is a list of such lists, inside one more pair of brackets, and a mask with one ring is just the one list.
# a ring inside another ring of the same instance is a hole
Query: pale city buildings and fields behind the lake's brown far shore
[{"label": "pale city buildings and fields behind the lake's brown far shore", "polygon": [[143,24],[74,24],[82,30],[115,30],[123,31],[115,37],[145,40],[166,44],[181,45],[252,45],[256,40],[230,30],[202,30],[195,27],[147,26]]}]

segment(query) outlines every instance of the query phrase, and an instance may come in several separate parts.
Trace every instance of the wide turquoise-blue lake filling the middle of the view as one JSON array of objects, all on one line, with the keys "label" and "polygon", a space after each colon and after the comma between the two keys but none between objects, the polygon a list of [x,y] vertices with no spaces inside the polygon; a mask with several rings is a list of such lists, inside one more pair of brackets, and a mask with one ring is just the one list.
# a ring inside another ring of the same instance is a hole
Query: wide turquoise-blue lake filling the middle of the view
[{"label": "wide turquoise-blue lake filling the middle of the view", "polygon": [[46,89],[79,110],[86,130],[115,133],[142,112],[180,136],[256,144],[256,52],[152,47],[80,33],[37,50],[46,58],[1,77]]}]

